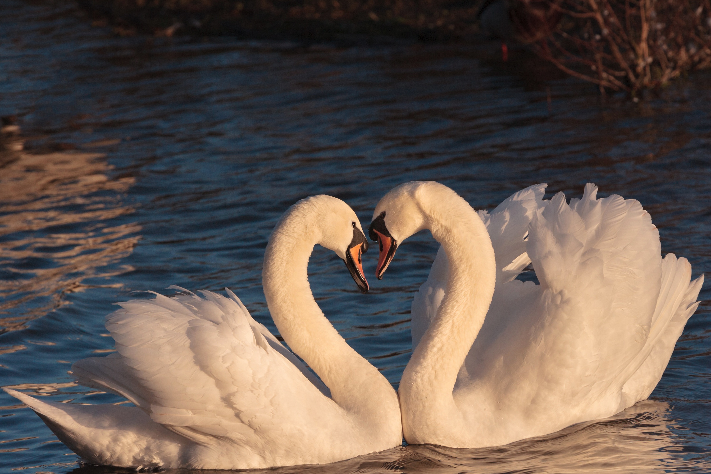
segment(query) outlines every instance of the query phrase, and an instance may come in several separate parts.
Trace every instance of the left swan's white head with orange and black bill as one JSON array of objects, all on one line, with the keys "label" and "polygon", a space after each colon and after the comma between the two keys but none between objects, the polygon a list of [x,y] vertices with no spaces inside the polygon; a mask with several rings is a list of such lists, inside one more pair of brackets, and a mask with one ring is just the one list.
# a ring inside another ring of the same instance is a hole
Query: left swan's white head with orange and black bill
[{"label": "left swan's white head with orange and black bill", "polygon": [[284,214],[275,232],[282,232],[282,223],[294,218],[301,221],[300,227],[305,225],[306,232],[311,234],[316,244],[341,257],[358,289],[366,293],[369,286],[363,273],[361,256],[368,252],[368,239],[351,206],[333,196],[310,196],[294,204]]}]

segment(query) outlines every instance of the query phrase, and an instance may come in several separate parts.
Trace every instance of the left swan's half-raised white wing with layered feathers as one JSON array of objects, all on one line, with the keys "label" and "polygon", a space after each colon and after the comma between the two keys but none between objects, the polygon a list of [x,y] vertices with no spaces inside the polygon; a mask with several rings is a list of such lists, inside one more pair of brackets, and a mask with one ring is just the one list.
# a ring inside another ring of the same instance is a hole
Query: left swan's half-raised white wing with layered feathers
[{"label": "left swan's half-raised white wing with layered feathers", "polygon": [[127,397],[156,423],[201,443],[248,444],[342,416],[233,293],[201,293],[119,303],[106,323],[117,353],[77,362],[78,381]]}]

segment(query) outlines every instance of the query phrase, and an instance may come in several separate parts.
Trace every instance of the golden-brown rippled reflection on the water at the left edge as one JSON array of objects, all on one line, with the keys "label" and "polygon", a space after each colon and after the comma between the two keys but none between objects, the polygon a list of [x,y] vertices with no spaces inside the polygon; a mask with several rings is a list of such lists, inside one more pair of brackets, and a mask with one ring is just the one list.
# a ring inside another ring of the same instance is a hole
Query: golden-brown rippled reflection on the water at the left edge
[{"label": "golden-brown rippled reflection on the water at the left edge", "polygon": [[105,267],[132,251],[139,225],[109,227],[132,212],[120,203],[134,178],[109,179],[101,153],[0,152],[0,313],[32,301],[20,316],[0,318],[0,333],[62,305],[65,293],[112,286],[86,284],[131,269]]}]

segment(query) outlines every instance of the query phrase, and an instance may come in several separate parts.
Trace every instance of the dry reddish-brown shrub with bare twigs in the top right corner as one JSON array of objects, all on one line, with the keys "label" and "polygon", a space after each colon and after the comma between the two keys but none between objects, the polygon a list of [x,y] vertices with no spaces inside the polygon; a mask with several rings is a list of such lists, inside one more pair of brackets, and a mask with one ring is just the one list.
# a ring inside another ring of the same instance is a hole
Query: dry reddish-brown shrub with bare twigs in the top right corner
[{"label": "dry reddish-brown shrub with bare twigs in the top right corner", "polygon": [[546,1],[562,18],[536,52],[602,92],[634,95],[711,66],[710,0]]}]

